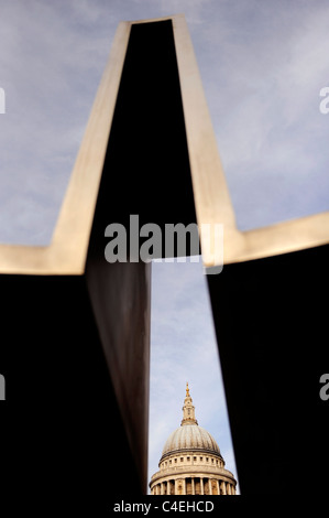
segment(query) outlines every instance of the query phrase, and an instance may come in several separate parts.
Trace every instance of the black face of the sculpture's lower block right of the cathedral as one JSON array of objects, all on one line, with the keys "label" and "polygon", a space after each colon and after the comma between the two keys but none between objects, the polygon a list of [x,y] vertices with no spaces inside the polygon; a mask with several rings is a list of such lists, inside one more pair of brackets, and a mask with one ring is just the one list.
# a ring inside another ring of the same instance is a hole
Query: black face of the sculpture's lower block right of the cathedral
[{"label": "black face of the sculpture's lower block right of the cathedral", "polygon": [[[224,266],[208,283],[241,493],[326,490],[329,247]],[[257,484],[254,484],[254,473]]]}]

